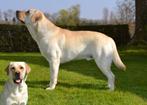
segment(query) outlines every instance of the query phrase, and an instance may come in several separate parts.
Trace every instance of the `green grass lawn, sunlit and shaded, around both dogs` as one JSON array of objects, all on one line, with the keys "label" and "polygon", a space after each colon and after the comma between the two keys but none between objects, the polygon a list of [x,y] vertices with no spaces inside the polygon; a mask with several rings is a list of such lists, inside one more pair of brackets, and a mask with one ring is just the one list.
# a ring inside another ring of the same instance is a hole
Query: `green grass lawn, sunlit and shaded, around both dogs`
[{"label": "green grass lawn, sunlit and shaded, around both dogs", "polygon": [[7,80],[5,67],[10,61],[25,61],[31,66],[28,76],[28,105],[147,105],[147,51],[121,51],[127,70],[112,65],[116,90],[110,92],[105,76],[93,61],[73,61],[60,66],[55,90],[49,83],[48,62],[40,53],[0,53],[0,91]]}]

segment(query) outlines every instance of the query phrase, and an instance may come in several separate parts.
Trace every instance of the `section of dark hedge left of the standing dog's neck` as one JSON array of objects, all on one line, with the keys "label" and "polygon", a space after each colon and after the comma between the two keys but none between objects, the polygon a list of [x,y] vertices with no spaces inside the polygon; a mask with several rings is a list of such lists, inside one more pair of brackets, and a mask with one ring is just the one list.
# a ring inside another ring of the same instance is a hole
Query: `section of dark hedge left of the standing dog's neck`
[{"label": "section of dark hedge left of the standing dog's neck", "polygon": [[1,52],[37,52],[38,47],[24,25],[0,25]]}]

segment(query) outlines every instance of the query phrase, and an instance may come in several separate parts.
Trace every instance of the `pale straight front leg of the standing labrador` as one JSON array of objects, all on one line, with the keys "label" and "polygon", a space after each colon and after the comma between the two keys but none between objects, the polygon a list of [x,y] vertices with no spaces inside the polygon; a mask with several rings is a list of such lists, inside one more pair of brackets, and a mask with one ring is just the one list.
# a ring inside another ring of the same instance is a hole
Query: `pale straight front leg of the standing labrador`
[{"label": "pale straight front leg of the standing labrador", "polygon": [[47,90],[53,90],[57,84],[58,71],[60,65],[60,59],[52,59],[49,62],[50,65],[50,84]]}]

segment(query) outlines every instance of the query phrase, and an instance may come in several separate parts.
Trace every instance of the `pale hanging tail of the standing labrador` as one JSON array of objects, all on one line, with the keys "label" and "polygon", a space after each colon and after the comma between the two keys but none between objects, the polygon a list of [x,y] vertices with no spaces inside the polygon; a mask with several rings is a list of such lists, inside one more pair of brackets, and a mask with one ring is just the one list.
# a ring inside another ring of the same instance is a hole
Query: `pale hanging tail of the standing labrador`
[{"label": "pale hanging tail of the standing labrador", "polygon": [[113,41],[113,62],[116,65],[116,67],[118,67],[119,69],[126,70],[126,66],[123,64],[123,62],[120,59],[114,41]]}]

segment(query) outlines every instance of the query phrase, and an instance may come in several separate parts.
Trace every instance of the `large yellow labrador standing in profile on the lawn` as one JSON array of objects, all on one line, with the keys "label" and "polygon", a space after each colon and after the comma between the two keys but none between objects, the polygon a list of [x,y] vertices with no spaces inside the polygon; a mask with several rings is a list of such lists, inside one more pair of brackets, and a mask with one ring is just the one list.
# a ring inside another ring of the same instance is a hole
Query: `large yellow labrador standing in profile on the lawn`
[{"label": "large yellow labrador standing in profile on the lawn", "polygon": [[41,54],[50,64],[50,84],[47,89],[55,88],[60,63],[73,59],[93,58],[108,78],[108,87],[114,90],[115,76],[111,72],[112,61],[120,69],[125,70],[126,67],[119,57],[113,39],[99,32],[62,29],[37,9],[16,11],[16,16],[27,26]]}]

